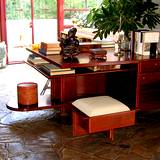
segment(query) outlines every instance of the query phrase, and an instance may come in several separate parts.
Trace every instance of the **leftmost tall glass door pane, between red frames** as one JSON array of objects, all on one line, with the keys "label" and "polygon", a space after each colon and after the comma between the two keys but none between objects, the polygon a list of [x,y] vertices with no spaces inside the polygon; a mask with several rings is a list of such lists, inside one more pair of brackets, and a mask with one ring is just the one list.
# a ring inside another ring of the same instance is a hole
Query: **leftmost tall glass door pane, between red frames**
[{"label": "leftmost tall glass door pane, between red frames", "polygon": [[32,43],[29,0],[6,0],[8,60],[23,61],[27,58],[26,46]]}]

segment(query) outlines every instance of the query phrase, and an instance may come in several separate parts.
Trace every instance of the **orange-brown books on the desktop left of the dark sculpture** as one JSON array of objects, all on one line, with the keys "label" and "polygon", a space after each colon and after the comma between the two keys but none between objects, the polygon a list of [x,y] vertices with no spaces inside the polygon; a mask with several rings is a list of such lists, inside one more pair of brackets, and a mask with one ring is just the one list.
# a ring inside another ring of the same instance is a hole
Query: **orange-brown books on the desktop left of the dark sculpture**
[{"label": "orange-brown books on the desktop left of the dark sculpture", "polygon": [[60,54],[61,47],[59,42],[45,43],[41,42],[39,52],[43,55]]}]

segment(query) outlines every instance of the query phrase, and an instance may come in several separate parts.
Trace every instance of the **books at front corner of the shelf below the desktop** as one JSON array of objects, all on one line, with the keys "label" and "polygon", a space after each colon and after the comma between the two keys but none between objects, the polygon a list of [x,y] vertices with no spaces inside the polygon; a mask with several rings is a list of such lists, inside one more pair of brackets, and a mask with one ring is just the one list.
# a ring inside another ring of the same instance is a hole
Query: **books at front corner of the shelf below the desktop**
[{"label": "books at front corner of the shelf below the desktop", "polygon": [[60,68],[51,63],[41,64],[40,69],[45,71],[49,75],[63,75],[63,74],[75,74],[75,69]]}]

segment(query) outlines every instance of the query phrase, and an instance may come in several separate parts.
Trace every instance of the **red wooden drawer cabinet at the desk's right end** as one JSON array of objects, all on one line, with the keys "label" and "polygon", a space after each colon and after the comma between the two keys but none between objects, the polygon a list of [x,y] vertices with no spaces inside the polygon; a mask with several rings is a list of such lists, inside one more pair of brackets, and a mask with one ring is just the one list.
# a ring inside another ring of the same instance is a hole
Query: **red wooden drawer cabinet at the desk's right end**
[{"label": "red wooden drawer cabinet at the desk's right end", "polygon": [[137,74],[136,108],[153,110],[160,108],[160,60],[144,59],[139,62]]}]

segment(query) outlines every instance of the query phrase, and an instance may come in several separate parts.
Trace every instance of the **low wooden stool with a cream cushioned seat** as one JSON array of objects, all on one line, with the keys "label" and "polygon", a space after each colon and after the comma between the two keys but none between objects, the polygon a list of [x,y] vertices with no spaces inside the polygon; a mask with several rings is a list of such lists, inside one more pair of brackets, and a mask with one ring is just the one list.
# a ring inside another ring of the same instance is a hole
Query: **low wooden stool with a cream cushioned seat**
[{"label": "low wooden stool with a cream cushioned seat", "polygon": [[135,124],[135,110],[110,97],[81,98],[72,103],[73,136],[109,131],[114,139],[114,129]]}]

